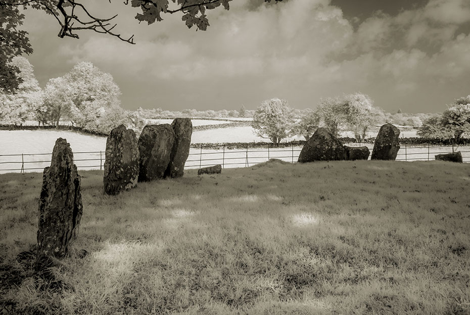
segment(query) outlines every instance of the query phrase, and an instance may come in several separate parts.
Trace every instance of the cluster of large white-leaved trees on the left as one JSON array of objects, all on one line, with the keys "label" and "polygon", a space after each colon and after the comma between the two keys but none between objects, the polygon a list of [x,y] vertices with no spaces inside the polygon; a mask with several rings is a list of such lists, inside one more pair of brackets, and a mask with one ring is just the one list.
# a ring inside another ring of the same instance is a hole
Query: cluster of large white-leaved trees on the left
[{"label": "cluster of large white-leaved trees on the left", "polygon": [[111,74],[90,62],[77,63],[70,72],[50,79],[44,89],[26,58],[18,56],[11,62],[20,69],[22,82],[15,91],[0,94],[1,123],[22,125],[35,120],[38,125],[58,126],[70,121],[72,126],[101,133],[120,124],[143,128],[142,119],[121,108],[121,91]]}]

